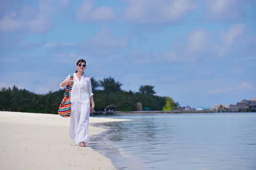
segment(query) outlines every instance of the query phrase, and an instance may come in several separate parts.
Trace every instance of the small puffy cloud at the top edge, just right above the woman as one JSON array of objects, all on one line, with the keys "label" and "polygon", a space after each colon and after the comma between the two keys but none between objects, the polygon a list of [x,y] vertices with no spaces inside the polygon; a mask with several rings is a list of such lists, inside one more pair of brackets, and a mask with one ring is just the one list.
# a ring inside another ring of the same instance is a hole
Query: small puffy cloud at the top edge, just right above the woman
[{"label": "small puffy cloud at the top edge, just right above the woman", "polygon": [[94,10],[93,7],[91,0],[82,2],[76,15],[77,19],[79,21],[107,21],[115,18],[112,8],[100,6]]}]

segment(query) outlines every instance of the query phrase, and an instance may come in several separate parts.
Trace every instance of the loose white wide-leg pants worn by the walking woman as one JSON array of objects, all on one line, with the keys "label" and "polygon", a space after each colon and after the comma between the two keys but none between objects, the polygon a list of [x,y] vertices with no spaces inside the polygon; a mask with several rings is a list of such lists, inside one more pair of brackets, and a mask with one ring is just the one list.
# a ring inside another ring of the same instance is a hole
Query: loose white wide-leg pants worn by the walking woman
[{"label": "loose white wide-leg pants worn by the walking woman", "polygon": [[88,142],[89,116],[90,101],[84,103],[71,102],[70,138],[76,144],[81,142],[87,144]]}]

